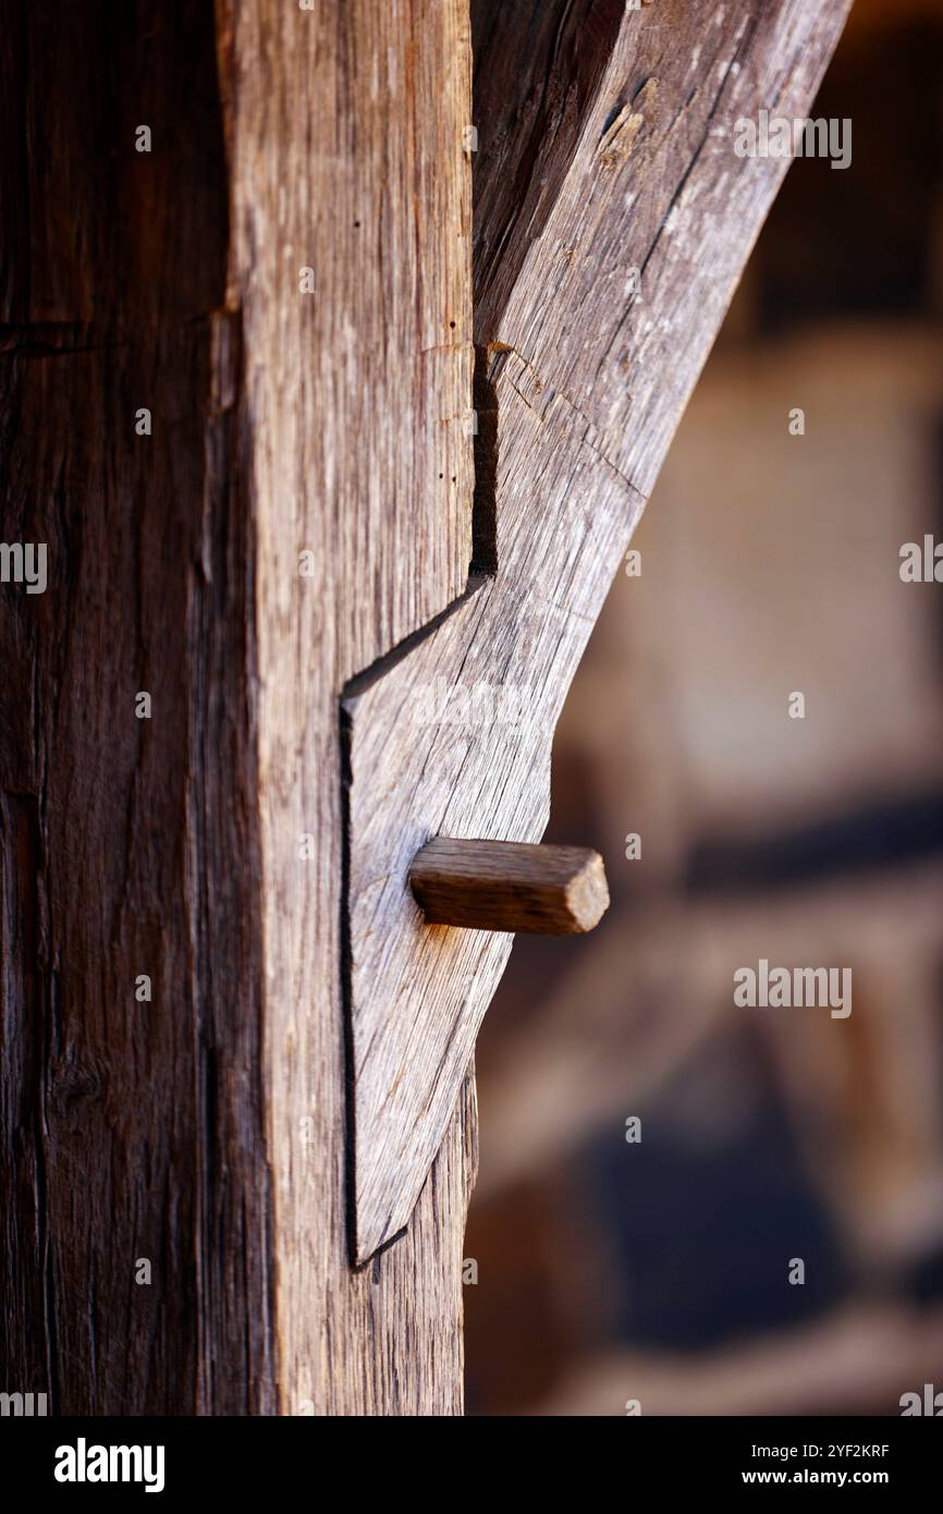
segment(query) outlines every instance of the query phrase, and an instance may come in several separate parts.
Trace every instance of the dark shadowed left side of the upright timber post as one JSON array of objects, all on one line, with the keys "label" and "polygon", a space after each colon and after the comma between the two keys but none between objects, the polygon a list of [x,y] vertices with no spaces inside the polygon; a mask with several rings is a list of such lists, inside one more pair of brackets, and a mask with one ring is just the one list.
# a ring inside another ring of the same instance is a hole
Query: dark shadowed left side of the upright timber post
[{"label": "dark shadowed left side of the upright timber post", "polygon": [[47,545],[48,586],[0,587],[0,1378],[54,1414],[266,1413],[248,516],[213,17],[14,5],[5,21],[0,534]]}]

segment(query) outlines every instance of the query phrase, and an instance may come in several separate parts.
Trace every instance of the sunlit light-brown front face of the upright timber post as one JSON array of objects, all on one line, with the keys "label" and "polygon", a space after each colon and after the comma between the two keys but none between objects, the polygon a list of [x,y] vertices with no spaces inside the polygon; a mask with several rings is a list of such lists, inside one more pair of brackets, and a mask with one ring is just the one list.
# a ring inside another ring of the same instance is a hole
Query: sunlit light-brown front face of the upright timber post
[{"label": "sunlit light-brown front face of the upright timber post", "polygon": [[[248,0],[226,9],[223,58],[253,439],[280,1402],[453,1414],[471,1089],[409,1241],[350,1266],[339,698],[462,592],[472,554],[468,8]],[[315,295],[298,292],[306,265]],[[315,578],[298,574],[306,548]]]}]

